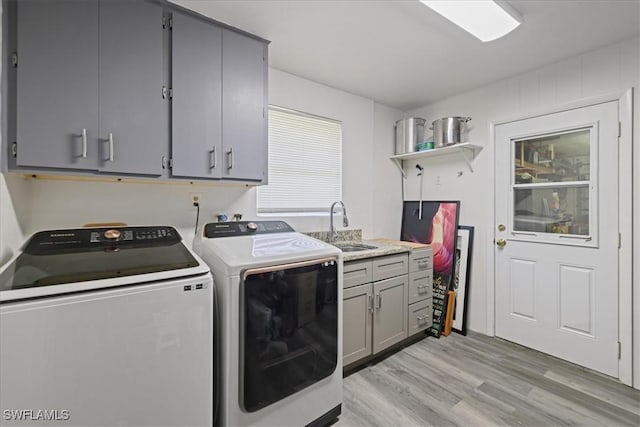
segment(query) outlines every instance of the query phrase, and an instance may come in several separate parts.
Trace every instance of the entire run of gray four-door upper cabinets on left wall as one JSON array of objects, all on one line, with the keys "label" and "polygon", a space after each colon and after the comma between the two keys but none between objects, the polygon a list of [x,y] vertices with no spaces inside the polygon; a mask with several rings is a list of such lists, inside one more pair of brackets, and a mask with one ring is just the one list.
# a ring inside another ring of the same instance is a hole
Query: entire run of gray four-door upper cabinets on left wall
[{"label": "entire run of gray four-door upper cabinets on left wall", "polygon": [[267,41],[164,1],[13,7],[10,168],[266,183]]}]

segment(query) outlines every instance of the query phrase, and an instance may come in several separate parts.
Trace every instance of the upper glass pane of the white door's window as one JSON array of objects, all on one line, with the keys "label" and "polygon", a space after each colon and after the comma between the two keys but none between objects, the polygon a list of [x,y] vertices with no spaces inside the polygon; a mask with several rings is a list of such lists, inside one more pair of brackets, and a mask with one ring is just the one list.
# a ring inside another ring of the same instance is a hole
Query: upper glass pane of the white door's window
[{"label": "upper glass pane of the white door's window", "polygon": [[515,184],[589,181],[591,129],[515,142]]}]

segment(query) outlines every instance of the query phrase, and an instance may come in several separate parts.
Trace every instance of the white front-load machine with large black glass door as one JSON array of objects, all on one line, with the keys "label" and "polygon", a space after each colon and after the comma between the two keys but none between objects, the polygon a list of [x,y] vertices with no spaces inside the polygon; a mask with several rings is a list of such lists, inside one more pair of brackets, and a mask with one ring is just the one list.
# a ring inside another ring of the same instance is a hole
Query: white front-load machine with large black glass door
[{"label": "white front-load machine with large black glass door", "polygon": [[282,221],[203,226],[221,426],[326,425],[342,408],[342,252]]}]

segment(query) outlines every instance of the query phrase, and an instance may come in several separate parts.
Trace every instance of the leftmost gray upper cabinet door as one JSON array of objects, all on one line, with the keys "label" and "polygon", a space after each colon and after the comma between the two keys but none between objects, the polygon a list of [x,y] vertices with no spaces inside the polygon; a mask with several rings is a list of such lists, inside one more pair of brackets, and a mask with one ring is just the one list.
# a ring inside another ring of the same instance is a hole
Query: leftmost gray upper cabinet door
[{"label": "leftmost gray upper cabinet door", "polygon": [[98,2],[17,7],[17,164],[96,169]]}]

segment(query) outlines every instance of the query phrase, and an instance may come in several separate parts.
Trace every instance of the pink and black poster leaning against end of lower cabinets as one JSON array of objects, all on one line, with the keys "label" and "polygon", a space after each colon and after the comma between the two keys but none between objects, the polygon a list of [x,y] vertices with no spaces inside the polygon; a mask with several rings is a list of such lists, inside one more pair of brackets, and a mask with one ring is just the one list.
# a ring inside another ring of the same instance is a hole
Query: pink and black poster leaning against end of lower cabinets
[{"label": "pink and black poster leaning against end of lower cabinets", "polygon": [[440,337],[447,311],[447,292],[454,280],[460,201],[425,200],[422,210],[420,206],[418,201],[403,203],[400,240],[430,244],[433,249],[433,326],[427,333]]}]

